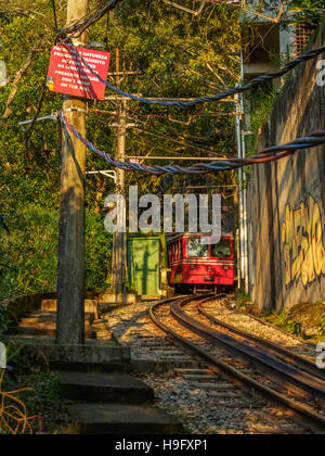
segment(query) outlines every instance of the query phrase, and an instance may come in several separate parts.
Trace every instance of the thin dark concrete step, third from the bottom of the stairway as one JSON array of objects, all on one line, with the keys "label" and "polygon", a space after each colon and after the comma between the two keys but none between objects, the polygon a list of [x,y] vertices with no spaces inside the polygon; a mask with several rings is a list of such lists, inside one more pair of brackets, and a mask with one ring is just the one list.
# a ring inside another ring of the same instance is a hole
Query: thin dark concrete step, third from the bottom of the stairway
[{"label": "thin dark concrete step, third from the bottom of the stairway", "polygon": [[129,373],[130,363],[50,362],[50,369],[70,372]]}]

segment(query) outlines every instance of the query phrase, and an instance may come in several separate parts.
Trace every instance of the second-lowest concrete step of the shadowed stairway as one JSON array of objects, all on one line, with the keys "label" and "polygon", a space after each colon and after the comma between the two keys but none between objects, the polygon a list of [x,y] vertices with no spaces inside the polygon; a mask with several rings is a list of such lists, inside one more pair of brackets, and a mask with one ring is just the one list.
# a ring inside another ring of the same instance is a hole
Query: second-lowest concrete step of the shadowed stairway
[{"label": "second-lowest concrete step of the shadowed stairway", "polygon": [[57,372],[65,397],[91,403],[140,404],[154,401],[154,391],[123,373]]}]

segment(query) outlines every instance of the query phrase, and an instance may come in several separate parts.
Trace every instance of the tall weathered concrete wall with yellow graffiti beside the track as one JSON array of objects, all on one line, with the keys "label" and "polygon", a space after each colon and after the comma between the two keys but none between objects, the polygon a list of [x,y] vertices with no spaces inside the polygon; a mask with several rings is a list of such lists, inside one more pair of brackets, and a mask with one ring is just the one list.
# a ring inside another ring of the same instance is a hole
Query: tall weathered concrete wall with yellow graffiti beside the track
[{"label": "tall weathered concrete wall with yellow graffiti beside the track", "polygon": [[[325,45],[325,23],[312,47]],[[259,150],[325,130],[318,56],[286,81],[264,125]],[[248,186],[251,299],[263,309],[325,299],[325,147],[255,166]]]}]

